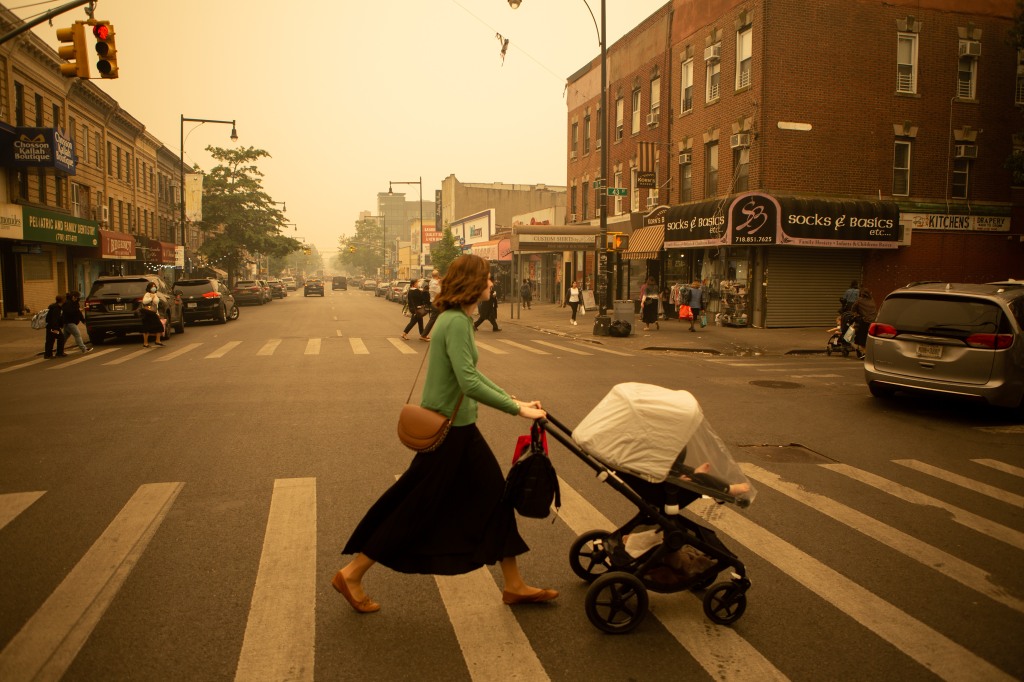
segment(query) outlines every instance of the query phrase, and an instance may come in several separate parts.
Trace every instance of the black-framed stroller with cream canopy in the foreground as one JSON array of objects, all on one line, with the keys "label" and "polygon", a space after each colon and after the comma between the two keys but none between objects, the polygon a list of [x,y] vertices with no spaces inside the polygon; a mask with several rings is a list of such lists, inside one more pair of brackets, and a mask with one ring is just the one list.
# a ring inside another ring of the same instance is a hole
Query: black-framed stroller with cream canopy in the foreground
[{"label": "black-framed stroller with cream canopy in the foreground", "polygon": [[[729,625],[743,614],[751,582],[742,562],[680,509],[701,496],[746,507],[756,492],[689,392],[618,384],[574,431],[551,413],[542,426],[638,510],[569,549],[572,571],[591,584],[585,604],[596,628],[631,632],[647,614],[648,590],[707,589],[710,620]],[[713,585],[726,570],[729,579]]]}]

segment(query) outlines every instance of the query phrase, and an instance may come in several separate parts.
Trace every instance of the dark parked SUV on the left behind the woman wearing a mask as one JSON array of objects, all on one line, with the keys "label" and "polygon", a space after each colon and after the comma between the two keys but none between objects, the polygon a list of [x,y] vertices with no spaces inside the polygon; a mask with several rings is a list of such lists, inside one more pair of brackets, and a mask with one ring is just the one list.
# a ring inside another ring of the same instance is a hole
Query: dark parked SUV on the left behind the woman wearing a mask
[{"label": "dark parked SUV on the left behind the woman wearing a mask", "polygon": [[130,274],[99,276],[92,283],[85,297],[85,327],[92,345],[101,344],[108,334],[123,337],[142,333],[142,317],[138,308],[146,287],[157,285],[157,311],[167,319],[164,338],[172,333],[184,334],[185,324],[181,314],[181,299],[156,274]]}]

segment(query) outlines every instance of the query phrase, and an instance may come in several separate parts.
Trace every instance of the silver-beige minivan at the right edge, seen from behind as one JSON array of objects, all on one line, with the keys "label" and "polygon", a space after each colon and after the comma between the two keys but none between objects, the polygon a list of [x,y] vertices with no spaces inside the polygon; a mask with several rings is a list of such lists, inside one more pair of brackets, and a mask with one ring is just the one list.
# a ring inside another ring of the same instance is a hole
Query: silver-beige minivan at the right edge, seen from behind
[{"label": "silver-beige minivan at the right edge, seen from behind", "polygon": [[1024,417],[1024,282],[897,289],[868,328],[865,352],[872,395],[955,395]]}]

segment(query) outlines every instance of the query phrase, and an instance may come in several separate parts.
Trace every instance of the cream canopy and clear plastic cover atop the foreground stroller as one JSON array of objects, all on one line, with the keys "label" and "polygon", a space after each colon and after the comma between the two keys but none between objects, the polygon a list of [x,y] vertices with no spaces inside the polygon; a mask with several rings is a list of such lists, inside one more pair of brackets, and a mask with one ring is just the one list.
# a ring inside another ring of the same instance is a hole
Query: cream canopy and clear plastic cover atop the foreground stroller
[{"label": "cream canopy and clear plastic cover atop the foreground stroller", "polygon": [[573,429],[572,439],[608,467],[653,483],[708,464],[710,475],[745,488],[736,497],[750,503],[756,494],[689,391],[617,384]]}]

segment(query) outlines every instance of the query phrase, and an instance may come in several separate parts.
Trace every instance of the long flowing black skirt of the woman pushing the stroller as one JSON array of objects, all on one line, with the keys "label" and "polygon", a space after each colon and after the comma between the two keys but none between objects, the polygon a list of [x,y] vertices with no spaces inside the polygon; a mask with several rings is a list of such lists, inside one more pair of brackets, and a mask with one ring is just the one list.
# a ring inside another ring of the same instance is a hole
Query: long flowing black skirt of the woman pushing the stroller
[{"label": "long flowing black skirt of the woman pushing the stroller", "polygon": [[367,512],[342,554],[362,552],[402,573],[458,576],[529,550],[505,477],[475,424],[453,427]]}]

